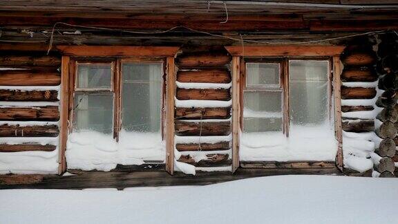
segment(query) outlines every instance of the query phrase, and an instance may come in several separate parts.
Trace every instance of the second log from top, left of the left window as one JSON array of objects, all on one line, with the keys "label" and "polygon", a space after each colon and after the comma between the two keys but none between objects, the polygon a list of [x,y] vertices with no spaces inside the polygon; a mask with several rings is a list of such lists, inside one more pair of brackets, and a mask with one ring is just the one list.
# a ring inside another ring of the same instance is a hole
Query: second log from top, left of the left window
[{"label": "second log from top, left of the left window", "polygon": [[61,74],[51,70],[5,70],[0,71],[1,86],[57,86]]}]

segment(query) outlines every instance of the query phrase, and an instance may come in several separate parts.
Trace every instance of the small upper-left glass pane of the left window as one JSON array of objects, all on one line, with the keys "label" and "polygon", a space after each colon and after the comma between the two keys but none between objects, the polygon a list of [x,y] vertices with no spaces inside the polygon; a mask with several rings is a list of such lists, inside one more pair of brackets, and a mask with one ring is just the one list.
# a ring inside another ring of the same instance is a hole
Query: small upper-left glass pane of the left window
[{"label": "small upper-left glass pane of the left window", "polygon": [[77,88],[111,88],[111,64],[77,64]]}]

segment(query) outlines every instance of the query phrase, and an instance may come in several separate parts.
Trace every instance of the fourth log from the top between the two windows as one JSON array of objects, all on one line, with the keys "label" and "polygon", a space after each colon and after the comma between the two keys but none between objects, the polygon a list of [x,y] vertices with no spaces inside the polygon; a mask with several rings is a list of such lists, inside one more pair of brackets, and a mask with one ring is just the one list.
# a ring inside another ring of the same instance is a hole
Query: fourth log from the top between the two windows
[{"label": "fourth log from the top between the two windows", "polygon": [[231,107],[177,108],[176,119],[227,119],[231,117]]}]

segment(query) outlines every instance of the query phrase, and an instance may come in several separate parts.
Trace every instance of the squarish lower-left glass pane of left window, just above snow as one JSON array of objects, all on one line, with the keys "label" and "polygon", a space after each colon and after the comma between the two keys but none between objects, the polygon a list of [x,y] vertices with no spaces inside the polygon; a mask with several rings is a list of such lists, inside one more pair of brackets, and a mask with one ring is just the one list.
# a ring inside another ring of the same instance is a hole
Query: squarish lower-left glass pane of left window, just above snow
[{"label": "squarish lower-left glass pane of left window, just above snow", "polygon": [[73,130],[113,132],[112,93],[75,93]]}]

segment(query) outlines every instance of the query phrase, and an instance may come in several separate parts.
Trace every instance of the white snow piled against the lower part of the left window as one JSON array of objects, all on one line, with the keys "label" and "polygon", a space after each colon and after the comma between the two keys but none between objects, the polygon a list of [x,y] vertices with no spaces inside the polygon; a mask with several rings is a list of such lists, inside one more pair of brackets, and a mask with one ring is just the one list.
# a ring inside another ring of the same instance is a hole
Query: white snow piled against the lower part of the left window
[{"label": "white snow piled against the lower part of the left window", "polygon": [[119,142],[112,134],[97,131],[71,133],[66,148],[69,169],[115,169],[117,164],[142,165],[144,160],[165,158],[164,142],[160,133],[120,131]]}]

